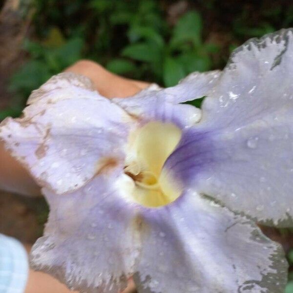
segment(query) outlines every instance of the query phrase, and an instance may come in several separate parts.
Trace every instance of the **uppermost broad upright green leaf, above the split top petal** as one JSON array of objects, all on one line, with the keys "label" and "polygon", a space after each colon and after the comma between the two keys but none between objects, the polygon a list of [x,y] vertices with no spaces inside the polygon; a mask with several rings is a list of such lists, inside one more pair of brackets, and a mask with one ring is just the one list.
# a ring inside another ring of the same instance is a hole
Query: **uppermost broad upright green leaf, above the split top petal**
[{"label": "uppermost broad upright green leaf, above the split top petal", "polygon": [[197,11],[190,11],[183,15],[176,23],[171,46],[176,46],[180,42],[192,42],[195,45],[201,43],[202,19]]}]

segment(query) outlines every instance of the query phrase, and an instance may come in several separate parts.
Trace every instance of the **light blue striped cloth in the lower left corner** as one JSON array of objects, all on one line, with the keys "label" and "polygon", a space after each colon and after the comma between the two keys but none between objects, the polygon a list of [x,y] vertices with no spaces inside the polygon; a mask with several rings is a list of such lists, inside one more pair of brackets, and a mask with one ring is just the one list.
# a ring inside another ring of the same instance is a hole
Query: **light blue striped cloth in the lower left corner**
[{"label": "light blue striped cloth in the lower left corner", "polygon": [[24,247],[16,239],[0,234],[0,293],[23,293],[27,277]]}]

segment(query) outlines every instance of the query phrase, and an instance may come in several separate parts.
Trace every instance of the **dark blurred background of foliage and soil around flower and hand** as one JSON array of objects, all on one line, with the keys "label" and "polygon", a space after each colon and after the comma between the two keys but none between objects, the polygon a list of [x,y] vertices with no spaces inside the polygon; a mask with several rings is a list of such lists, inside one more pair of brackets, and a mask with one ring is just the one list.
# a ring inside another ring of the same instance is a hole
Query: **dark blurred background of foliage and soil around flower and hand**
[{"label": "dark blurred background of foliage and soil around flower and hand", "polygon": [[[0,9],[0,120],[20,115],[33,89],[80,59],[170,86],[223,68],[250,38],[293,26],[292,0],[0,0]],[[0,232],[23,242],[42,234],[47,214],[42,198],[0,195]],[[263,230],[293,264],[292,230]]]}]

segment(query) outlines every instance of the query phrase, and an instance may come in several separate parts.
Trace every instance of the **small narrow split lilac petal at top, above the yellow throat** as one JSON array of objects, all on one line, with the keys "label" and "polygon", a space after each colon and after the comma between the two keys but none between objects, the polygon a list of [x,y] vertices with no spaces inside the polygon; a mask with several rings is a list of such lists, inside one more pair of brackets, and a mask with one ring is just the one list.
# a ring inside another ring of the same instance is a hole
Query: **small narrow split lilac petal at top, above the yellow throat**
[{"label": "small narrow split lilac petal at top, above the yellow throat", "polygon": [[194,72],[176,86],[162,89],[153,85],[133,97],[113,99],[113,102],[142,120],[170,122],[185,128],[200,120],[201,111],[192,105],[179,103],[202,98],[215,86],[219,77],[218,70]]}]

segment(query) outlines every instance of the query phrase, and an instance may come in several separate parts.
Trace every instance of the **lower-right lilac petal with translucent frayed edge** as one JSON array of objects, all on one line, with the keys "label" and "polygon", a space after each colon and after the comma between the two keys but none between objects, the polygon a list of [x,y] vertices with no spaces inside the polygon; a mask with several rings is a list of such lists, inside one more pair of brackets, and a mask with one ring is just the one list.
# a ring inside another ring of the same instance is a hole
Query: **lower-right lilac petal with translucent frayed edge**
[{"label": "lower-right lilac petal with translucent frayed edge", "polygon": [[189,191],[143,219],[140,293],[283,292],[284,253],[247,218]]}]

